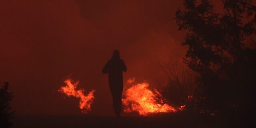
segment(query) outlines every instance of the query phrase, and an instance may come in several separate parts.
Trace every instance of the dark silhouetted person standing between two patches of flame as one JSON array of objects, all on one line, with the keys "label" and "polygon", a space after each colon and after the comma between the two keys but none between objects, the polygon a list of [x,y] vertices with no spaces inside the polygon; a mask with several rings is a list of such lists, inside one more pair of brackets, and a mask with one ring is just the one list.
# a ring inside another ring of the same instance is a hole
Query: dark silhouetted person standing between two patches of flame
[{"label": "dark silhouetted person standing between two patches of flame", "polygon": [[108,84],[113,98],[113,107],[116,116],[120,116],[122,111],[122,92],[123,92],[123,72],[127,68],[124,61],[120,59],[118,50],[113,52],[113,56],[105,64],[102,72],[108,73]]}]

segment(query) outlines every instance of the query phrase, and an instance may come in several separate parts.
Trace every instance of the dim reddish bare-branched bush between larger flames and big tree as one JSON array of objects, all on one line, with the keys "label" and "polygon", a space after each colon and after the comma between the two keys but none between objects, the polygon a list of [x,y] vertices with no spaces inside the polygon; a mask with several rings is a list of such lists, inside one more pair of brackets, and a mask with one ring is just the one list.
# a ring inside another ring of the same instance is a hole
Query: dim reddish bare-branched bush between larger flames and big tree
[{"label": "dim reddish bare-branched bush between larger flames and big tree", "polygon": [[200,84],[196,82],[197,74],[189,69],[174,68],[176,70],[165,71],[166,82],[162,86],[161,93],[173,106],[180,106],[182,110],[200,111],[203,96]]}]

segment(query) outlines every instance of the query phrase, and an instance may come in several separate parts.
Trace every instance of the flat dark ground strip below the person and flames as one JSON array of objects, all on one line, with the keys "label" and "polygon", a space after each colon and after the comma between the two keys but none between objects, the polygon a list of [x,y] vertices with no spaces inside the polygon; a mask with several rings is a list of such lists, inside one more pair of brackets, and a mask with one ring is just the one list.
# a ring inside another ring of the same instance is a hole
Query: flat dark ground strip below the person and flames
[{"label": "flat dark ground strip below the person and flames", "polygon": [[[222,120],[224,121],[224,120]],[[182,114],[154,116],[19,115],[12,128],[225,128],[216,117]]]}]

